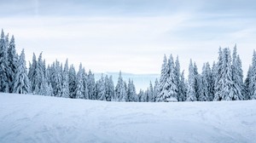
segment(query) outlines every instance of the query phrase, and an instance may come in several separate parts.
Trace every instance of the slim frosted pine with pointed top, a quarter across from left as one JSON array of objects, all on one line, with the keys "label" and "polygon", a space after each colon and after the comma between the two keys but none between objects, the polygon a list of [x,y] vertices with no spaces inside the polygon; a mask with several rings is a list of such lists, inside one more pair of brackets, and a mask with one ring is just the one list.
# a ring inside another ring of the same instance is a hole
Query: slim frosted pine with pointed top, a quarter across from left
[{"label": "slim frosted pine with pointed top, a quarter across from left", "polygon": [[69,77],[68,77],[68,60],[65,62],[64,70],[62,72],[62,88],[61,97],[69,98]]}]

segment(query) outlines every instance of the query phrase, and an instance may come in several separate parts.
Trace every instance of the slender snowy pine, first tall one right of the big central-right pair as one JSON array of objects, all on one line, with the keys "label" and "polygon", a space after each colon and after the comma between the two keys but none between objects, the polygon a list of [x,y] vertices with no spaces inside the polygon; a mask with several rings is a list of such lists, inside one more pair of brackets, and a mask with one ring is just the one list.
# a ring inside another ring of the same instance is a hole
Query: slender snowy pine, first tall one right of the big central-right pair
[{"label": "slender snowy pine, first tall one right of the big central-right pair", "polygon": [[192,60],[189,63],[189,79],[188,79],[188,92],[187,92],[187,101],[195,101],[195,70],[192,64]]}]

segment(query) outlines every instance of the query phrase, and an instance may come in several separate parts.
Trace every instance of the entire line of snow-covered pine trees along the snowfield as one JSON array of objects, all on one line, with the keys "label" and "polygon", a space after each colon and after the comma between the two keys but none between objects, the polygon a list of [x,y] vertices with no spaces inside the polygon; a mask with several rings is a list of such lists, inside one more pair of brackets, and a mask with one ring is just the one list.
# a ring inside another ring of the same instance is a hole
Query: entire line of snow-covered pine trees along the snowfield
[{"label": "entire line of snow-covered pine trees along the snowfield", "polygon": [[164,55],[160,79],[149,83],[148,89],[136,92],[131,79],[128,83],[119,72],[118,83],[114,86],[112,76],[99,80],[94,74],[85,72],[82,64],[76,72],[66,60],[55,60],[46,66],[42,53],[35,54],[29,68],[26,68],[24,49],[16,53],[15,37],[9,41],[9,34],[3,30],[0,38],[0,93],[39,94],[73,99],[134,101],[134,102],[171,102],[171,101],[212,101],[212,100],[253,100],[256,99],[256,52],[253,63],[243,81],[241,59],[236,45],[218,51],[218,60],[212,66],[207,62],[202,72],[192,60],[189,63],[189,76],[181,72],[178,57]]}]

